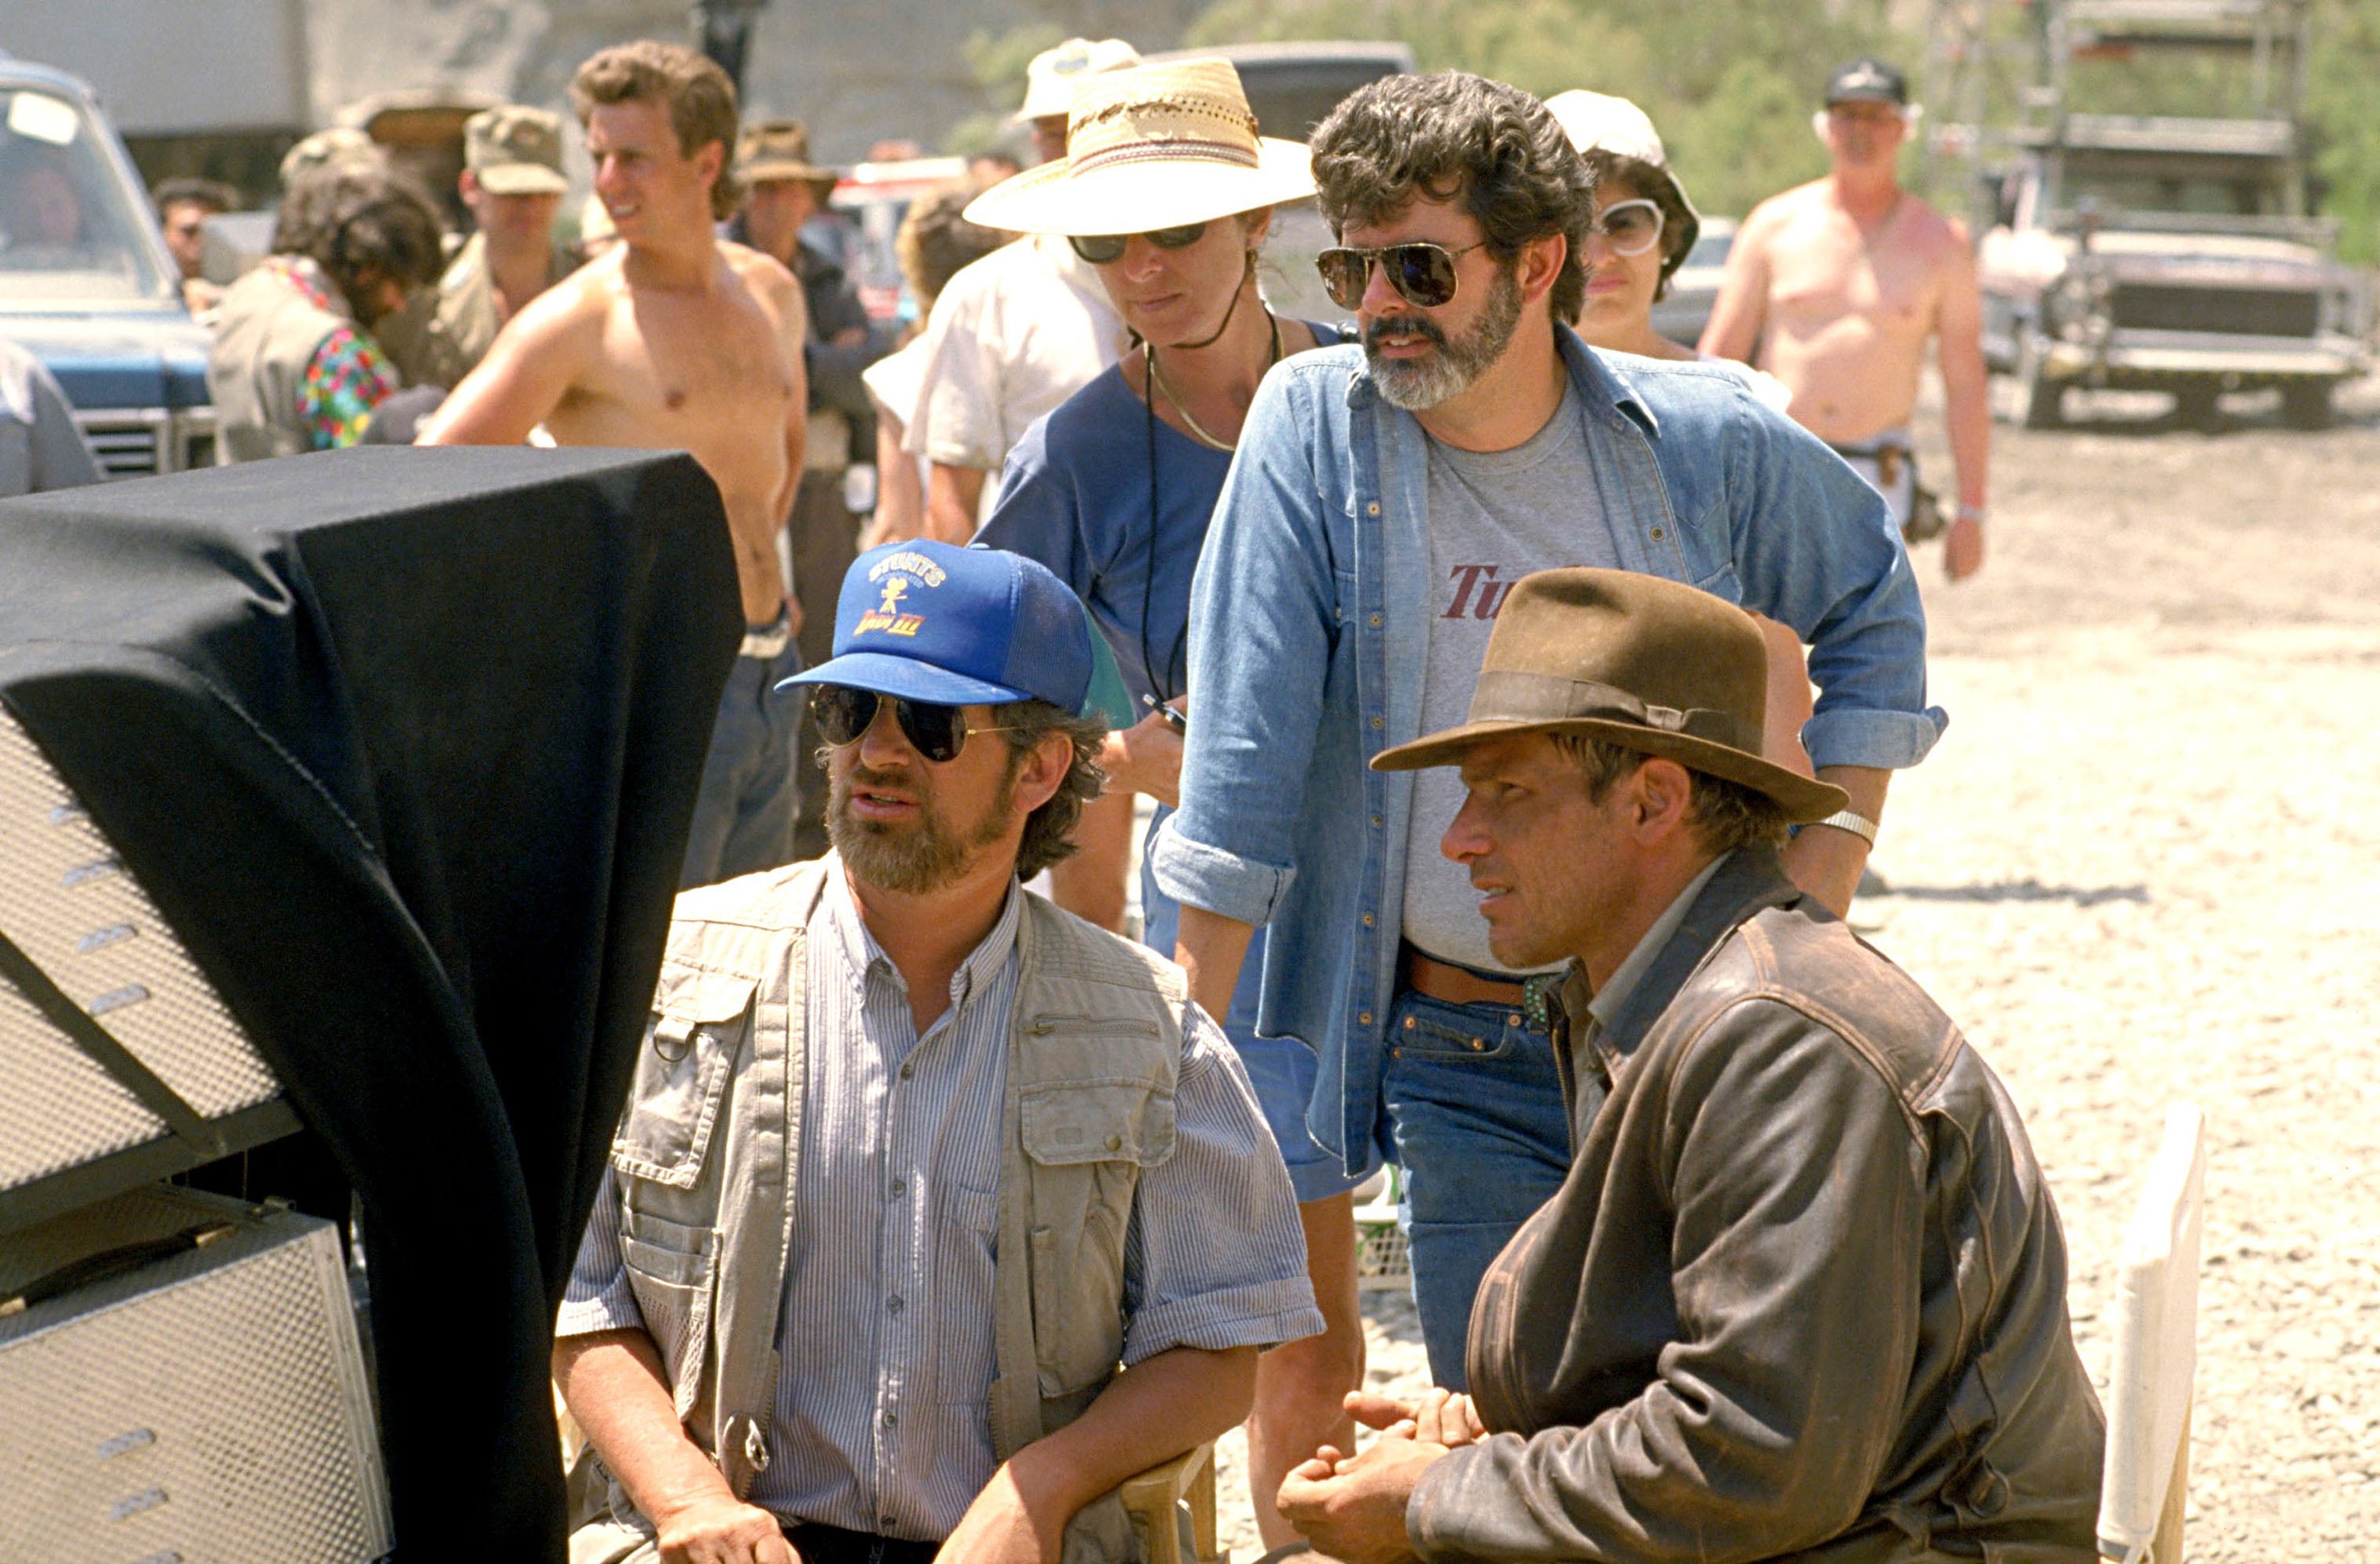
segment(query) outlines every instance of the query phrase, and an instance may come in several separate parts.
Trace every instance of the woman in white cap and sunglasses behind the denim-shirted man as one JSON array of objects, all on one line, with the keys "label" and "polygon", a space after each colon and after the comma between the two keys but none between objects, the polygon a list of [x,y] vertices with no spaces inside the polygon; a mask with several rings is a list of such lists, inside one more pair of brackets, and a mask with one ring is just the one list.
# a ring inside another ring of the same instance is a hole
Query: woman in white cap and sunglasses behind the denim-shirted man
[{"label": "woman in white cap and sunglasses behind the denim-shirted man", "polygon": [[[1775,376],[1699,355],[1652,326],[1652,307],[1668,293],[1668,281],[1695,248],[1702,214],[1671,171],[1661,133],[1652,129],[1645,110],[1626,98],[1585,90],[1554,93],[1545,107],[1595,171],[1595,226],[1587,229],[1580,257],[1587,267],[1587,295],[1573,321],[1578,336],[1590,348],[1609,352],[1704,359],[1733,371],[1752,395],[1783,412],[1790,395]],[[1814,707],[1802,638],[1773,619],[1752,614],[1752,621],[1761,626],[1761,640],[1768,645],[1768,759],[1809,776],[1799,733]]]}]

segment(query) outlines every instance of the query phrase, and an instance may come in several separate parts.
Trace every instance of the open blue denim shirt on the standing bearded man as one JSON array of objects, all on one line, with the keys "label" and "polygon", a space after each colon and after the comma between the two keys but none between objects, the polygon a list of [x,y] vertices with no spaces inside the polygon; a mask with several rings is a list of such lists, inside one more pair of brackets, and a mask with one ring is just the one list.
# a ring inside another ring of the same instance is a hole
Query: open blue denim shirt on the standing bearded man
[{"label": "open blue denim shirt on the standing bearded man", "polygon": [[[1818,767],[1914,767],[1925,609],[1885,502],[1728,369],[1604,355],[1559,331],[1623,569],[1687,581],[1811,645]],[[1364,1159],[1397,983],[1409,771],[1428,657],[1428,436],[1357,345],[1257,390],[1190,593],[1180,812],[1157,886],[1266,926],[1257,1031],[1321,1055],[1314,1138]]]}]

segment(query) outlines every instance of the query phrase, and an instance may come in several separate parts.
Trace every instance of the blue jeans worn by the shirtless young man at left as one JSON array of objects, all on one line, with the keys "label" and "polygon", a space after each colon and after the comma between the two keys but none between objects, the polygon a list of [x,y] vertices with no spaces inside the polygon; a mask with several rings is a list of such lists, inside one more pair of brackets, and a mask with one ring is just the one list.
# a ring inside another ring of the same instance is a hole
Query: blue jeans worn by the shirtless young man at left
[{"label": "blue jeans worn by the shirtless young man at left", "polygon": [[702,759],[695,824],[685,831],[678,890],[714,886],[793,862],[793,819],[802,783],[802,690],[778,695],[776,681],[802,671],[793,640],[776,657],[738,657],[712,721]]}]

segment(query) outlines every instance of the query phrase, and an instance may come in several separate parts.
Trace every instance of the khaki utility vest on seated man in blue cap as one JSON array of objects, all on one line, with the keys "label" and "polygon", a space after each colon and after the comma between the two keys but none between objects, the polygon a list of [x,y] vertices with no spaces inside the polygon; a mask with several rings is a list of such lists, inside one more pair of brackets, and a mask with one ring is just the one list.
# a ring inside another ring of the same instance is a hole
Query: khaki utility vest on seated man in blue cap
[{"label": "khaki utility vest on seated man in blue cap", "polygon": [[[738,1497],[769,1466],[802,1164],[809,914],[833,859],[678,897],[612,1169],[621,1252],[678,1419]],[[1183,974],[1026,893],[1002,1100],[992,1447],[1097,1400],[1123,1355],[1123,1235],[1173,1155]],[[614,1493],[614,1514],[626,1495]],[[1066,1559],[1140,1550],[1109,1493]]]}]

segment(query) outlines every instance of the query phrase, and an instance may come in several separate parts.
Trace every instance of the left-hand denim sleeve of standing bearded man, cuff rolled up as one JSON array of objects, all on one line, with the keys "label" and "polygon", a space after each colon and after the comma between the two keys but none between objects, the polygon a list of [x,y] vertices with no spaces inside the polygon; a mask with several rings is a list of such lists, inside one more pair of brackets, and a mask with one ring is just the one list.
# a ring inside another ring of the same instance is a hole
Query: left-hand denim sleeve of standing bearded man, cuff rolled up
[{"label": "left-hand denim sleeve of standing bearded man, cuff rolled up", "polygon": [[1297,878],[1297,817],[1338,633],[1316,419],[1330,379],[1285,364],[1257,388],[1190,588],[1190,728],[1180,809],[1157,833],[1157,888],[1266,924]]}]

